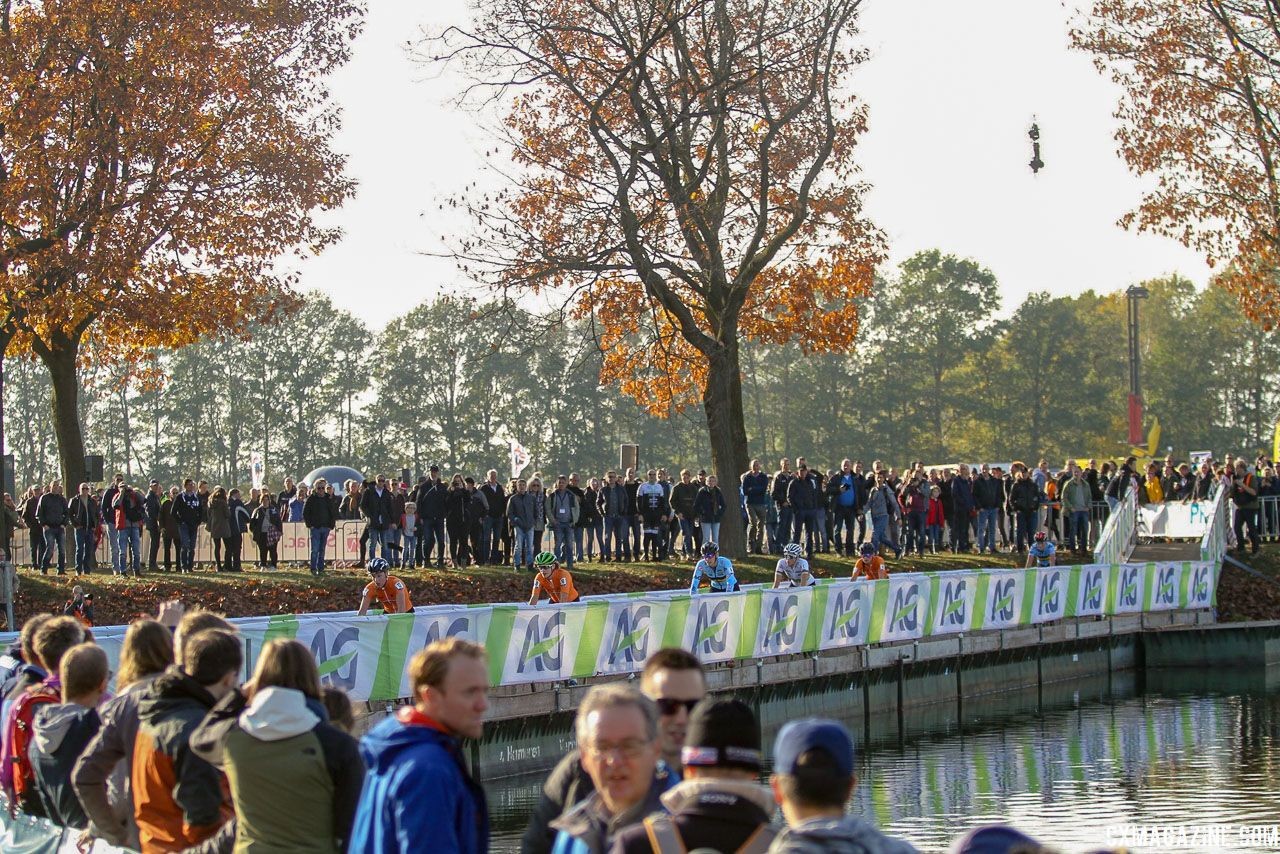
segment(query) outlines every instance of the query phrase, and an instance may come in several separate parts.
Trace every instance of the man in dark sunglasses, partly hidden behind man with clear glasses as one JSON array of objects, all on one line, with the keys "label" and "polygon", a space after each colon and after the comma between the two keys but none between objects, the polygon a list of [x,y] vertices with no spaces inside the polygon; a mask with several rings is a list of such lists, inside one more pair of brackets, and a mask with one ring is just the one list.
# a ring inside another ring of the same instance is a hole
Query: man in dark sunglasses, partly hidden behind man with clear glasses
[{"label": "man in dark sunglasses, partly hidden behind man with clear glasses", "polygon": [[[650,776],[660,777],[666,786],[675,785],[680,777],[680,752],[685,746],[689,713],[707,695],[703,666],[689,650],[659,649],[645,661],[640,691],[658,707],[658,755]],[[581,708],[585,702],[579,709],[579,720]],[[581,739],[579,735],[580,745]],[[595,782],[585,764],[581,752],[573,750],[552,771],[525,828],[521,846],[525,854],[548,854],[556,841],[550,822],[595,793]],[[641,812],[636,821],[646,814]]]}]

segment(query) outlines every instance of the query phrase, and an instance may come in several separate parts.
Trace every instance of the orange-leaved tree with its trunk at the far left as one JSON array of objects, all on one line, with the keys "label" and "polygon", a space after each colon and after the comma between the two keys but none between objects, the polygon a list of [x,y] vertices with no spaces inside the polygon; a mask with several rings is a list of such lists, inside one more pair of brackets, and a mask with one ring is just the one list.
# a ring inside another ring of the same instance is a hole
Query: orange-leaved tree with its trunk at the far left
[{"label": "orange-leaved tree with its trunk at the far left", "polygon": [[353,189],[324,78],[361,19],[352,0],[0,0],[0,314],[50,371],[67,483],[83,360],[237,334],[291,303],[279,256],[337,239],[314,219]]}]

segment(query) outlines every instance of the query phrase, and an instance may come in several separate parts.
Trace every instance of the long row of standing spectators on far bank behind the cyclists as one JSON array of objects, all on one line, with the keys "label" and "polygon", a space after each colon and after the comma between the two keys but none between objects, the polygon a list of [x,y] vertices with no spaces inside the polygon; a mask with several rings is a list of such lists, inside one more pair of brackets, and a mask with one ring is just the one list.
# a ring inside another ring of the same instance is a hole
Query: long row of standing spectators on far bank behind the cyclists
[{"label": "long row of standing spectators on far bank behind the cyclists", "polygon": [[360,566],[381,556],[396,567],[490,563],[532,571],[547,540],[572,570],[575,561],[596,558],[696,560],[703,543],[719,540],[724,513],[739,512],[749,551],[762,554],[781,554],[790,542],[803,543],[809,558],[829,552],[852,558],[867,542],[897,556],[1025,553],[1041,530],[1083,553],[1134,484],[1143,504],[1204,501],[1219,485],[1228,487],[1236,542],[1248,538],[1256,547],[1263,535],[1280,534],[1280,479],[1263,455],[1252,463],[1228,455],[1222,462],[1196,465],[1169,456],[1144,467],[1133,457],[1083,466],[1068,460],[1060,469],[1047,460],[1034,466],[916,461],[897,469],[846,458],[838,469],[823,470],[796,457],[794,466],[780,460],[773,472],[753,460],[727,485],[705,469],[682,469],[676,476],[663,467],[643,476],[634,469],[591,478],[534,474],[503,483],[495,470],[445,481],[431,466],[412,485],[384,475],[340,488],[285,478],[279,490],[242,494],[195,479],[168,489],[151,480],[142,489],[116,474],[105,489],[79,484],[70,499],[59,481],[31,487],[17,504],[5,494],[0,544],[8,552],[18,529],[26,529],[32,567],[41,572],[64,574],[68,561],[77,574],[93,571],[104,539],[116,574],[141,574],[143,566],[189,572],[197,534],[206,529],[215,568],[237,572],[246,536],[256,565],[274,567],[284,525],[302,522],[310,530],[308,566],[320,574],[330,531],[340,520],[357,520]]}]

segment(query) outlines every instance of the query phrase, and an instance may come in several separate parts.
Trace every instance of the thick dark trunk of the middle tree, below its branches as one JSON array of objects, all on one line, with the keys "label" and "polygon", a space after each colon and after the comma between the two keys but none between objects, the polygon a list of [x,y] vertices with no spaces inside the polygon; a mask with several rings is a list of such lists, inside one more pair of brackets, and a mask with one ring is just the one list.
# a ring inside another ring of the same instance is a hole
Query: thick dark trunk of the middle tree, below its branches
[{"label": "thick dark trunk of the middle tree, below its branches", "polygon": [[722,344],[708,356],[707,389],[703,408],[712,440],[712,465],[724,494],[724,517],[721,520],[721,553],[746,556],[742,530],[742,504],[739,497],[740,478],[746,471],[746,424],[742,417],[742,374],[739,366],[737,341]]}]

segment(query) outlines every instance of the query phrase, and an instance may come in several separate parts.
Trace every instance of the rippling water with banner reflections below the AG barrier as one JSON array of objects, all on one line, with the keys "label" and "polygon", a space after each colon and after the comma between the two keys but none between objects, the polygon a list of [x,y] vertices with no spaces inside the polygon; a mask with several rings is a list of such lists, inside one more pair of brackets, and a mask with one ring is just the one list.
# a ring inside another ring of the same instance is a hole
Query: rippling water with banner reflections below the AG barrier
[{"label": "rippling water with banner reflections below the AG barrier", "polygon": [[[1266,835],[1280,826],[1275,668],[1149,672],[1142,685],[1117,673],[966,700],[960,709],[940,703],[906,716],[901,739],[895,714],[861,714],[860,690],[763,693],[754,699],[765,741],[772,746],[778,727],[796,717],[844,720],[861,745],[850,808],[920,850],[946,850],[965,828],[992,822],[1068,851],[1101,846],[1108,828],[1123,825],[1222,826],[1212,844],[1202,839],[1184,850],[1277,848]],[[563,730],[541,740],[557,754],[568,744]],[[494,850],[518,848],[543,776],[488,784]],[[1242,826],[1263,827],[1242,835]]]}]

